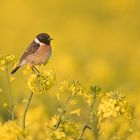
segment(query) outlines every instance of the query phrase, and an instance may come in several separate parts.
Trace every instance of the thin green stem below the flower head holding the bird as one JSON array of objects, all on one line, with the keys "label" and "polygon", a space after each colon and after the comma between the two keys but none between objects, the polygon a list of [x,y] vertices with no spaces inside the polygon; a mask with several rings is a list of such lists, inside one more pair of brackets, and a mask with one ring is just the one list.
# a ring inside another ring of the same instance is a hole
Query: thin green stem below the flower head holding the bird
[{"label": "thin green stem below the flower head holding the bird", "polygon": [[27,114],[27,111],[29,109],[29,106],[30,106],[32,97],[33,97],[33,92],[31,92],[31,94],[30,94],[30,97],[28,99],[27,106],[26,106],[25,111],[24,111],[24,114],[23,114],[23,120],[22,120],[22,128],[23,129],[25,129],[25,127],[26,127],[26,114]]}]

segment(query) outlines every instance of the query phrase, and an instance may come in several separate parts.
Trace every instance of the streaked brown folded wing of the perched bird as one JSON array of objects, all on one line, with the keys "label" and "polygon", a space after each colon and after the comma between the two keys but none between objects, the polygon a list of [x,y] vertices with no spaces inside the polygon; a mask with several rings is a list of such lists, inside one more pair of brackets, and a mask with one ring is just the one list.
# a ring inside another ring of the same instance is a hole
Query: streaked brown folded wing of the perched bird
[{"label": "streaked brown folded wing of the perched bird", "polygon": [[35,53],[38,48],[39,48],[39,44],[37,44],[36,42],[32,42],[29,47],[25,50],[24,54],[22,55],[22,57],[20,58],[20,61],[24,60],[27,56],[29,56],[30,54]]}]

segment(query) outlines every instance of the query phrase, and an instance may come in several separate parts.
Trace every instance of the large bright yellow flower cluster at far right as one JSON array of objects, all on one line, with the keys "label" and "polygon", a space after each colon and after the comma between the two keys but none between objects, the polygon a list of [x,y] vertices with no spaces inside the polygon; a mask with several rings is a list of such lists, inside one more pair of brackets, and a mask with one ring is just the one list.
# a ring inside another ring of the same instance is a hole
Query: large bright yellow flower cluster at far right
[{"label": "large bright yellow flower cluster at far right", "polygon": [[109,117],[117,117],[128,110],[125,97],[118,92],[101,93],[98,98],[100,101],[97,112],[99,122]]}]

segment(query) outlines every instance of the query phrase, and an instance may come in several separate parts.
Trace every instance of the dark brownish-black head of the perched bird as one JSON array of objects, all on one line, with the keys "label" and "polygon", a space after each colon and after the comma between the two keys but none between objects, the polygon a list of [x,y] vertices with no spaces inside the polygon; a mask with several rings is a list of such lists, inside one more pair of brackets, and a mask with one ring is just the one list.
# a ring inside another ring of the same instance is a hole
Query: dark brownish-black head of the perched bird
[{"label": "dark brownish-black head of the perched bird", "polygon": [[46,33],[38,34],[36,37],[37,37],[37,39],[38,39],[41,43],[44,43],[44,44],[46,44],[46,45],[50,45],[51,40],[53,40],[53,39],[51,39],[50,36],[49,36],[48,34],[46,34]]}]

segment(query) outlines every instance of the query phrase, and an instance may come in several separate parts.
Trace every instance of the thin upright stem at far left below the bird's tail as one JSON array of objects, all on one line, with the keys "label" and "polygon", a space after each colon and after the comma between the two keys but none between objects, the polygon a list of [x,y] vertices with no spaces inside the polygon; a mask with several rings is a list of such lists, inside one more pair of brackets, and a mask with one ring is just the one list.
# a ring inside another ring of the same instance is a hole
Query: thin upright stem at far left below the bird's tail
[{"label": "thin upright stem at far left below the bird's tail", "polygon": [[10,79],[9,79],[8,68],[6,68],[5,71],[6,71],[6,78],[7,78],[7,85],[8,85],[9,106],[10,106],[10,111],[11,111],[12,120],[14,120],[14,118],[15,118],[15,113],[14,113],[14,102],[13,102],[13,96],[12,96],[12,90],[11,90],[11,85],[10,85]]}]

